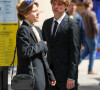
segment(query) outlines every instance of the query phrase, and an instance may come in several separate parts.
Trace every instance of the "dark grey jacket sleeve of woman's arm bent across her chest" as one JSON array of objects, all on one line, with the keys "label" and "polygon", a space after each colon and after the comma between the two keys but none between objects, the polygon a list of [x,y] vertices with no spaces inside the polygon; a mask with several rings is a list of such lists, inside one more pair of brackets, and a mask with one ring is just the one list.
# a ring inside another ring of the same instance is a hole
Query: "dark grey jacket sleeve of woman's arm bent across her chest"
[{"label": "dark grey jacket sleeve of woman's arm bent across her chest", "polygon": [[46,51],[47,46],[44,41],[33,42],[30,44],[30,32],[27,28],[21,27],[17,34],[17,52],[19,52],[23,58],[30,58],[36,54]]}]

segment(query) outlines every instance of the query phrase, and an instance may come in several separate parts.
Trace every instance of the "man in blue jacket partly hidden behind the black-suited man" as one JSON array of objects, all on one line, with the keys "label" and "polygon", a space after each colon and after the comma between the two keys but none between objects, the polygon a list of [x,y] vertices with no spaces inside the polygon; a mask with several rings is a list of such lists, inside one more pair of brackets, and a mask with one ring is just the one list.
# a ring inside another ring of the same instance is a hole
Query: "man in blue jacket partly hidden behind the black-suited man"
[{"label": "man in blue jacket partly hidden behind the black-suited man", "polygon": [[84,45],[85,43],[85,28],[83,25],[82,17],[76,12],[77,4],[78,4],[78,0],[72,0],[71,4],[69,5],[68,12],[66,13],[70,18],[77,20],[79,23],[80,30],[81,30],[81,49],[82,49],[82,45]]}]

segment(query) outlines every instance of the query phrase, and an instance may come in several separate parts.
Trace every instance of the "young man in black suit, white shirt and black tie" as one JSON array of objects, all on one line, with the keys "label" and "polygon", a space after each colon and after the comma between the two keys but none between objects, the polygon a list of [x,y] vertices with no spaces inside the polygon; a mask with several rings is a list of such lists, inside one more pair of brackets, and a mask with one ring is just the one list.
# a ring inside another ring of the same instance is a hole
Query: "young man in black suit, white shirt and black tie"
[{"label": "young man in black suit, white shirt and black tie", "polygon": [[65,12],[69,3],[70,0],[51,0],[54,17],[47,19],[42,28],[48,62],[57,81],[51,90],[78,90],[80,28]]}]

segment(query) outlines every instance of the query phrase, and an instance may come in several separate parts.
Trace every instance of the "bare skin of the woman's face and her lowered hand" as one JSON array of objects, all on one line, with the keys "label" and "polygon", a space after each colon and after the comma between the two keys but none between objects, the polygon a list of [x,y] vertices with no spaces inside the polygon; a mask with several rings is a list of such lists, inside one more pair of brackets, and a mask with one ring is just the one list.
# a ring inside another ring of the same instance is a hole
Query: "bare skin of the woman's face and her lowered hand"
[{"label": "bare skin of the woman's face and her lowered hand", "polygon": [[[24,15],[24,17],[31,23],[33,24],[34,22],[38,22],[39,21],[39,12],[38,12],[38,7],[34,4],[33,8],[32,8],[32,12],[30,12],[27,15]],[[49,83],[51,84],[51,86],[55,86],[56,81],[49,81]]]}]

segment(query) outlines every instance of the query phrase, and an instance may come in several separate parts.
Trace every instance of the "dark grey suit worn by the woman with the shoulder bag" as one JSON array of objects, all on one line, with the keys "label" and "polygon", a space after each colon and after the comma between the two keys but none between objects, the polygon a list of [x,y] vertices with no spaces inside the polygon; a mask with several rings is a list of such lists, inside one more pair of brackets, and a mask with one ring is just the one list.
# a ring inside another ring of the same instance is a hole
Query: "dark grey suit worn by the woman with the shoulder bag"
[{"label": "dark grey suit worn by the woman with the shoulder bag", "polygon": [[[42,39],[41,30],[38,27],[36,29]],[[47,51],[46,44],[43,40],[37,42],[31,27],[26,22],[23,22],[19,27],[16,40],[18,56],[17,74],[31,74],[29,72],[29,64],[30,60],[32,60],[36,79],[35,90],[45,90],[45,86],[49,85],[49,80],[55,80],[45,59],[45,54],[42,54]]]}]

